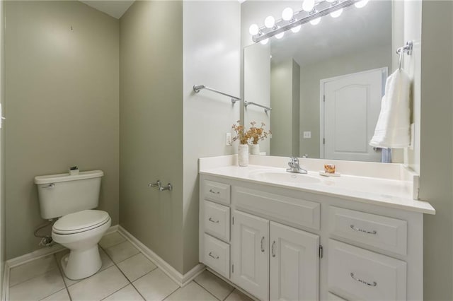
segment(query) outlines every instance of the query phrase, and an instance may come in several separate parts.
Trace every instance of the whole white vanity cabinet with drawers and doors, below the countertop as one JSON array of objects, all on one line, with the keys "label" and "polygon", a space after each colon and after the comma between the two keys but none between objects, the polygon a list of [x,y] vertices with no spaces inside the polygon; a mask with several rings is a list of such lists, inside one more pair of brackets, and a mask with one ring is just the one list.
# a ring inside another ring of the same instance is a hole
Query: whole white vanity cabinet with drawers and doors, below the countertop
[{"label": "whole white vanity cabinet with drawers and doors, below the countertop", "polygon": [[259,300],[423,300],[423,213],[201,173],[200,261]]}]

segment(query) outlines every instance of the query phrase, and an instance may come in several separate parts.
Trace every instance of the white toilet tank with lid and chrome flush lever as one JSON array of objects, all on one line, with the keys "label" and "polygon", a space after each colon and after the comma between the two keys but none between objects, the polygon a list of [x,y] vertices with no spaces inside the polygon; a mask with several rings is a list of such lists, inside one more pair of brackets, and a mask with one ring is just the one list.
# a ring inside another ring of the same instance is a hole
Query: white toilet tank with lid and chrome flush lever
[{"label": "white toilet tank with lid and chrome flush lever", "polygon": [[93,209],[99,203],[102,170],[35,177],[41,217],[44,219]]}]

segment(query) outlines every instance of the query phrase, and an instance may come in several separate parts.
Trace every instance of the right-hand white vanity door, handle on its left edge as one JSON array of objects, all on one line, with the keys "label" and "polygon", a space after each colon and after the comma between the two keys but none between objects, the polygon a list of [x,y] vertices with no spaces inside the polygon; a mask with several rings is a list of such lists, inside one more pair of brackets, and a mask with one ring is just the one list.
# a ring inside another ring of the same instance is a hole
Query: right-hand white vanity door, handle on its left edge
[{"label": "right-hand white vanity door, handle on its left edge", "polygon": [[270,300],[319,299],[319,236],[270,222]]}]

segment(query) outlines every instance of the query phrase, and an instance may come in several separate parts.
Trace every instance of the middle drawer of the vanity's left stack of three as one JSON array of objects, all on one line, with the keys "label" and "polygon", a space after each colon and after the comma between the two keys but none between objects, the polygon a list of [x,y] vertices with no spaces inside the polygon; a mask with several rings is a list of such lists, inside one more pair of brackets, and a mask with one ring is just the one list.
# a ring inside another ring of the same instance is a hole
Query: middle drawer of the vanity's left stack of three
[{"label": "middle drawer of the vanity's left stack of three", "polygon": [[229,207],[205,201],[205,232],[229,242]]}]

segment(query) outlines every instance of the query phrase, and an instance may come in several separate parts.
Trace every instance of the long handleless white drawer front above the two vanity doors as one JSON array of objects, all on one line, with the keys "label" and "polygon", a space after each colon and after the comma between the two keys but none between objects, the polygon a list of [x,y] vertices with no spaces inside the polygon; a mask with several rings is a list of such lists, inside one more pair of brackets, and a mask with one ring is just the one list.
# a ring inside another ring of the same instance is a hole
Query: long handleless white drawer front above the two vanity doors
[{"label": "long handleless white drawer front above the two vanity doors", "polygon": [[320,228],[319,203],[243,187],[233,187],[233,198],[241,211],[294,227]]}]

